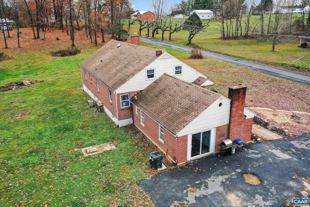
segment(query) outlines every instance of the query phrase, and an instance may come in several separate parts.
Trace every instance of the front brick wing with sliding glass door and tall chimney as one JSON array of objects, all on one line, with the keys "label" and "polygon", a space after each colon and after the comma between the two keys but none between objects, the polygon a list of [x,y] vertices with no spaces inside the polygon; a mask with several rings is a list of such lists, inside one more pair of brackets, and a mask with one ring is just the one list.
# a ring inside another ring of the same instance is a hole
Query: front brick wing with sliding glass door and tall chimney
[{"label": "front brick wing with sliding glass door and tall chimney", "polygon": [[229,88],[229,97],[168,74],[131,99],[133,120],[177,164],[220,151],[225,139],[251,138],[254,112],[246,109],[247,87]]}]

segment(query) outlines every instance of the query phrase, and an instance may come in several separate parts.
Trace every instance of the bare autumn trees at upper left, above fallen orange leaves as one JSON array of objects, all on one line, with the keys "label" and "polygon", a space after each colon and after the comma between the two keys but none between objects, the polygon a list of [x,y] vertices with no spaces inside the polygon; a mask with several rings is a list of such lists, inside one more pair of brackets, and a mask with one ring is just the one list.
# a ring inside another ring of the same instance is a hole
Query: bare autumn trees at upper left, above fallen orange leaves
[{"label": "bare autumn trees at upper left, above fallen orange leaves", "polygon": [[133,13],[130,0],[0,0],[0,19],[14,20],[17,30],[29,26],[33,39],[44,39],[46,30],[59,27],[71,35],[72,46],[74,25],[77,30],[82,29],[81,20],[87,37],[97,45],[97,34],[101,34],[102,42],[105,33],[120,39],[124,33],[123,20]]}]

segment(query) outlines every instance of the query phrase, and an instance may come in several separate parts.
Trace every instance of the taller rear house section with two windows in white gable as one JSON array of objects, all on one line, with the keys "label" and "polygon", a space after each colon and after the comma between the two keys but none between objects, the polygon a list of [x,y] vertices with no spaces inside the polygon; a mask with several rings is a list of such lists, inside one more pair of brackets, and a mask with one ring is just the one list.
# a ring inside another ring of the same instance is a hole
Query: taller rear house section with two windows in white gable
[{"label": "taller rear house section with two windows in white gable", "polygon": [[130,98],[164,73],[199,86],[214,84],[165,49],[139,46],[139,35],[131,43],[111,40],[80,63],[83,90],[118,127],[133,123]]}]

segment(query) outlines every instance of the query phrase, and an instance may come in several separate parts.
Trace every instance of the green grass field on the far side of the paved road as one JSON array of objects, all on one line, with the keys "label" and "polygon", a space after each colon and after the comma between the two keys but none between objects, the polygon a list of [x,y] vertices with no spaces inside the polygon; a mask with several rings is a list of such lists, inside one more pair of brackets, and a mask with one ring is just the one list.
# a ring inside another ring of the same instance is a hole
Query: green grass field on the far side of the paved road
[{"label": "green grass field on the far side of the paved road", "polygon": [[[298,14],[294,15],[298,17]],[[254,22],[258,16],[251,16]],[[203,20],[204,23],[208,20]],[[268,22],[268,21],[265,21]],[[264,36],[264,39],[238,39],[222,40],[220,22],[213,19],[205,31],[199,32],[192,39],[192,45],[188,46],[188,31],[181,30],[172,34],[171,41],[168,40],[169,31],[164,33],[164,41],[187,47],[200,47],[203,50],[239,57],[246,60],[273,64],[287,69],[298,71],[299,67],[305,68],[302,72],[310,74],[310,48],[299,48],[298,37],[279,38],[279,44],[275,51],[271,52],[271,36]],[[139,25],[132,25],[130,33],[139,32]],[[141,36],[145,37],[146,29]],[[151,34],[150,34],[151,36]],[[155,34],[155,38],[161,38],[161,31]],[[297,68],[296,68],[297,67]]]}]

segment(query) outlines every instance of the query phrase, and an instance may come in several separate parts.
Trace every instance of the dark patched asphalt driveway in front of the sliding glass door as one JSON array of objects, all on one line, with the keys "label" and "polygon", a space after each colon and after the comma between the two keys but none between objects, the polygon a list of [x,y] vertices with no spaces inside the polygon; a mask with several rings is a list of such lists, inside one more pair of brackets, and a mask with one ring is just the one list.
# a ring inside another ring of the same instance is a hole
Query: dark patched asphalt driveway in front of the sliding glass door
[{"label": "dark patched asphalt driveway in front of the sliding glass door", "polygon": [[[261,184],[247,183],[244,174]],[[293,198],[310,198],[309,176],[310,134],[303,134],[197,159],[137,185],[155,207],[284,207],[293,206]]]}]

